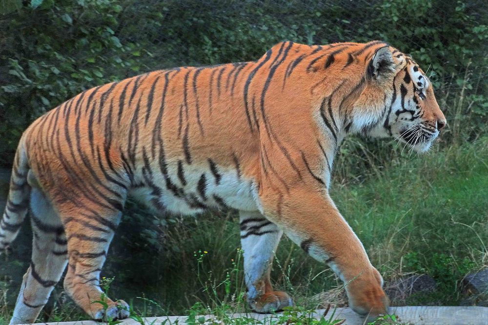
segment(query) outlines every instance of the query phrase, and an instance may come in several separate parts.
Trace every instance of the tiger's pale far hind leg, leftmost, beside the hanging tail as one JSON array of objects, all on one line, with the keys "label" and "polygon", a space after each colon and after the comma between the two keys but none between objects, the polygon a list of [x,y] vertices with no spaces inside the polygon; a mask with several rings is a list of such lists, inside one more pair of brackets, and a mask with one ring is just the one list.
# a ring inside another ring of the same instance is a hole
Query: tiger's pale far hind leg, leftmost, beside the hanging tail
[{"label": "tiger's pale far hind leg, leftmost, beside the hanging tail", "polygon": [[34,323],[67,263],[61,219],[38,188],[31,191],[32,260],[20,287],[10,324]]}]

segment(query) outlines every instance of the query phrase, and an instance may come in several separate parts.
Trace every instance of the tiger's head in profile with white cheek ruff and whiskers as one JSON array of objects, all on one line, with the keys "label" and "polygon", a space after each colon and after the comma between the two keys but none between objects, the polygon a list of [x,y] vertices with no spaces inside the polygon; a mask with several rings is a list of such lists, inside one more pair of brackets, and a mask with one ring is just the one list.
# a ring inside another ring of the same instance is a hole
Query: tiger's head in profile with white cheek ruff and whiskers
[{"label": "tiger's head in profile with white cheek ruff and whiskers", "polygon": [[376,50],[365,69],[366,87],[353,106],[355,129],[372,137],[394,137],[426,152],[446,118],[425,73],[389,46]]}]

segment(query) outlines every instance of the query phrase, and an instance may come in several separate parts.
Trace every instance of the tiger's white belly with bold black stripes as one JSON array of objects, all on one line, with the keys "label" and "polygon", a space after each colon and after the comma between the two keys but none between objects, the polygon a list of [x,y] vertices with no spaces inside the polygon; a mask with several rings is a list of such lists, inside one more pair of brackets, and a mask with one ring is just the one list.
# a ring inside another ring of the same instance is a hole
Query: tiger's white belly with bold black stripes
[{"label": "tiger's white belly with bold black stripes", "polygon": [[[171,169],[168,169],[170,171]],[[129,195],[158,212],[196,214],[207,209],[258,210],[257,187],[236,170],[176,167],[168,175],[139,173]]]}]

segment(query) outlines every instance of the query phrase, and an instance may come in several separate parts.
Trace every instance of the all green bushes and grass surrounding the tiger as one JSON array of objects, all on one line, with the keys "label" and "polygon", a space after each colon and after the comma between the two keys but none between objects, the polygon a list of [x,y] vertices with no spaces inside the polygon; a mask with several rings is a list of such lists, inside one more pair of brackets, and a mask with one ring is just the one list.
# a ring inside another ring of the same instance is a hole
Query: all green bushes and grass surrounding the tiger
[{"label": "all green bushes and grass surrounding the tiger", "polygon": [[[284,39],[384,39],[430,66],[448,127],[421,157],[394,142],[347,138],[331,193],[387,282],[411,273],[436,280],[434,292],[406,304],[457,305],[459,281],[488,265],[487,10],[477,0],[4,1],[0,165],[11,165],[29,123],[95,85],[172,66],[253,60]],[[111,297],[133,298],[134,319],[184,313],[201,324],[197,316],[212,313],[224,324],[249,324],[225,318],[247,310],[235,213],[161,218],[129,202],[120,228],[102,275],[115,277]],[[26,224],[16,249],[1,256],[0,324],[28,267],[30,237]],[[342,283],[287,238],[272,279],[300,306],[273,324],[310,324],[310,310],[339,302],[322,293],[340,292]],[[334,324],[329,314],[317,324]],[[40,321],[85,317],[58,285]]]}]

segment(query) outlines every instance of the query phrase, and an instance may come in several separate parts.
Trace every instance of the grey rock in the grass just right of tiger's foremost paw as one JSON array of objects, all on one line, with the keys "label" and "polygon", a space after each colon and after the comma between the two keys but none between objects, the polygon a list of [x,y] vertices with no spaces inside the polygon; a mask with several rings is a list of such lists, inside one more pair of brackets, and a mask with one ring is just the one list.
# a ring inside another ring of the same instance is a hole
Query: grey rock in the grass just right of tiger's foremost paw
[{"label": "grey rock in the grass just right of tiger's foremost paw", "polygon": [[435,280],[427,274],[416,274],[400,278],[385,287],[386,294],[394,305],[405,303],[414,293],[432,292],[435,290]]}]

